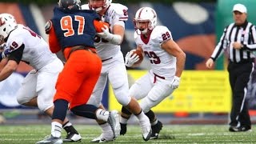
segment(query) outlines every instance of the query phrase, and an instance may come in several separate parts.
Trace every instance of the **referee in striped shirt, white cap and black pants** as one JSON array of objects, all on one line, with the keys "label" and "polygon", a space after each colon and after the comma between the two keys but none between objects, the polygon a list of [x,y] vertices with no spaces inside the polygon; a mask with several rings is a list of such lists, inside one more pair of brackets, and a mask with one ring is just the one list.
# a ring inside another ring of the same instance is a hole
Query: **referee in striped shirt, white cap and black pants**
[{"label": "referee in striped shirt, white cap and black pants", "polygon": [[229,72],[232,90],[232,109],[230,113],[230,131],[251,130],[250,115],[246,102],[247,83],[254,70],[254,51],[256,50],[255,26],[246,20],[247,9],[242,4],[233,7],[234,23],[226,26],[213,54],[206,62],[211,68],[214,61],[226,51],[229,59]]}]

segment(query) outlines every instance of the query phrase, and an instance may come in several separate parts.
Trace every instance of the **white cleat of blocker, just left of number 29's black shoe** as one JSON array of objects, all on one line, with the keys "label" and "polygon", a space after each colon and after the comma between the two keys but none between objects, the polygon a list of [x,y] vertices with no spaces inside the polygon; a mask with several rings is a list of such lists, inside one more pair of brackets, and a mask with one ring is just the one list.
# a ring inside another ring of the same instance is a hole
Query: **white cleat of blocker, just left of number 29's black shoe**
[{"label": "white cleat of blocker, just left of number 29's black shoe", "polygon": [[150,119],[145,117],[143,121],[139,121],[139,125],[141,126],[142,129],[142,137],[144,141],[150,140],[152,134]]}]

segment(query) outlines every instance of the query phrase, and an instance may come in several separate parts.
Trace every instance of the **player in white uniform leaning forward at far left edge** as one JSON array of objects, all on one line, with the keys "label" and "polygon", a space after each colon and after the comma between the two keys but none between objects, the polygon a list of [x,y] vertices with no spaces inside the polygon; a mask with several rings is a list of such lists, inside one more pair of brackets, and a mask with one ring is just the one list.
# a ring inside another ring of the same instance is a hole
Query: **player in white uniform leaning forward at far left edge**
[{"label": "player in white uniform leaning forward at far left edge", "polygon": [[[55,84],[63,68],[62,61],[50,52],[48,44],[41,36],[29,27],[17,24],[13,15],[0,14],[0,23],[0,43],[3,43],[0,59],[4,65],[0,72],[0,81],[8,78],[21,61],[32,66],[34,70],[26,75],[17,92],[17,101],[24,106],[36,106],[52,117]],[[62,126],[67,132],[67,141],[73,136],[81,139],[67,118]]]}]

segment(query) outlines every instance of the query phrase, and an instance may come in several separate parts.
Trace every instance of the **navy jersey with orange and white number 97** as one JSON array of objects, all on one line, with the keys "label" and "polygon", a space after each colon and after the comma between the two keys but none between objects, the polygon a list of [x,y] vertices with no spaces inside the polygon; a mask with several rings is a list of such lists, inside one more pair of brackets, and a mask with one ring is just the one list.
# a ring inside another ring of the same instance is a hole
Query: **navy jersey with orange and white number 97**
[{"label": "navy jersey with orange and white number 97", "polygon": [[94,47],[95,19],[98,19],[98,14],[94,10],[62,10],[55,7],[51,22],[62,49],[69,46]]}]

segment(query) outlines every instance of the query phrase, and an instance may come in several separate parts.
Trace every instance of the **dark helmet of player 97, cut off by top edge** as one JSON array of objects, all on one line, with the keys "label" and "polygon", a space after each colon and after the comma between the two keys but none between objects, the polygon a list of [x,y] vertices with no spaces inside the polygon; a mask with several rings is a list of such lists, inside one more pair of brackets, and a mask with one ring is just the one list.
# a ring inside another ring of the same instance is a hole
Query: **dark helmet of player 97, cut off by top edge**
[{"label": "dark helmet of player 97, cut off by top edge", "polygon": [[81,10],[80,0],[59,0],[58,7],[64,10]]}]

